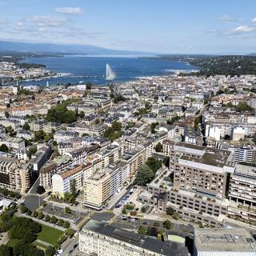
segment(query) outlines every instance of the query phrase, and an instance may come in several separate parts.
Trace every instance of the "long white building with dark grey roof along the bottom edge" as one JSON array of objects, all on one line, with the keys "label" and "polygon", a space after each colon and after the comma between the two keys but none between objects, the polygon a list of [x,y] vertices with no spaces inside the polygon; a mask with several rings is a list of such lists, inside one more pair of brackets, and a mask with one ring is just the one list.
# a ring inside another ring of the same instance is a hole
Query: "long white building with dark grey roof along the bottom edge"
[{"label": "long white building with dark grey roof along the bottom edge", "polygon": [[79,250],[88,255],[187,256],[185,246],[115,228],[90,220],[79,234]]}]

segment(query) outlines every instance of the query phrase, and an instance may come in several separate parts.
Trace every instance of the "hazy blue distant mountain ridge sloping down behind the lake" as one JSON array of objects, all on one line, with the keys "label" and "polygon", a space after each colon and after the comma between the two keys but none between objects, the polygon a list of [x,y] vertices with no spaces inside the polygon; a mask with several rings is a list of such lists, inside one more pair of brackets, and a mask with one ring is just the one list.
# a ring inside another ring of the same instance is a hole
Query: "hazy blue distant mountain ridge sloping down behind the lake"
[{"label": "hazy blue distant mountain ridge sloping down behind the lake", "polygon": [[148,54],[127,50],[111,50],[98,46],[62,45],[54,43],[29,43],[0,41],[1,52],[56,53],[56,54]]}]

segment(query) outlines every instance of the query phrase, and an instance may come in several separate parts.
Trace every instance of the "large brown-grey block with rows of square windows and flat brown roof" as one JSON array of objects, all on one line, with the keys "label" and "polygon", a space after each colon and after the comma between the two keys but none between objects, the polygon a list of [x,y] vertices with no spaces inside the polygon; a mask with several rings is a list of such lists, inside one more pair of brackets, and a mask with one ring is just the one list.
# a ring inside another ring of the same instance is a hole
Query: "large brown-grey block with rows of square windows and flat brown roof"
[{"label": "large brown-grey block with rows of square windows and flat brown roof", "polygon": [[222,200],[235,164],[229,151],[178,142],[170,152],[170,168],[174,170],[174,190],[196,191]]}]

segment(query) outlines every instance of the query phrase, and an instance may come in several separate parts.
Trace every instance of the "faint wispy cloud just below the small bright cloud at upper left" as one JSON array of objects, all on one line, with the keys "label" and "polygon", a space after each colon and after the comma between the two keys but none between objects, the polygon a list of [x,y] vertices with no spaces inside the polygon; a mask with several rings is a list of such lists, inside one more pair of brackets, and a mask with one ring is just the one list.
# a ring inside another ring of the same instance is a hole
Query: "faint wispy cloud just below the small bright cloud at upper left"
[{"label": "faint wispy cloud just below the small bright cloud at upper left", "polygon": [[26,22],[33,22],[38,26],[59,26],[66,22],[66,18],[34,15],[33,17],[26,18]]}]

